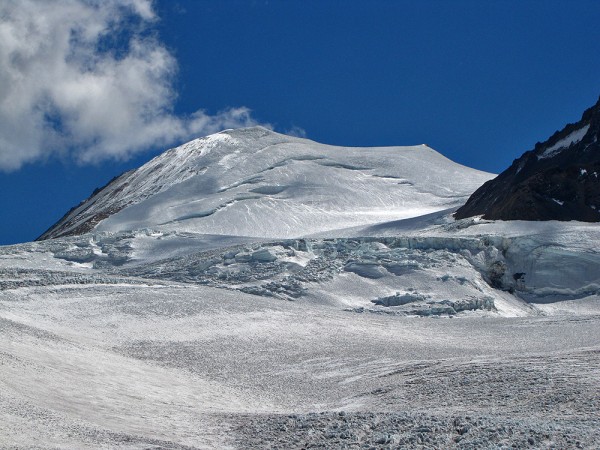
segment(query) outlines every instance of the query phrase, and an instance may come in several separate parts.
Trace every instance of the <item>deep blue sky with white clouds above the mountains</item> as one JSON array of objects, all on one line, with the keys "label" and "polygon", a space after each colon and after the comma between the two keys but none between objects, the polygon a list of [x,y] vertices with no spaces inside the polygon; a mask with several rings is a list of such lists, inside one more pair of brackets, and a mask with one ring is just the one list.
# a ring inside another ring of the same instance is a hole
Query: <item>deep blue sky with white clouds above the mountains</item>
[{"label": "deep blue sky with white clouds above the mountains", "polygon": [[[53,60],[0,42],[10,58],[0,61],[0,244],[36,238],[113,176],[223,126],[267,123],[348,146],[426,143],[500,172],[600,95],[595,0],[107,0],[94,14],[59,3],[0,6],[14,9],[0,14],[13,25],[33,11],[47,18],[42,34],[65,28],[61,11],[79,17],[62,53],[40,50]],[[85,27],[98,23],[111,33],[94,41]],[[49,36],[64,41],[58,31],[39,41]],[[21,79],[6,67],[21,78],[37,67],[27,92],[40,94],[27,107],[6,100]],[[94,71],[91,88],[82,80]]]}]

